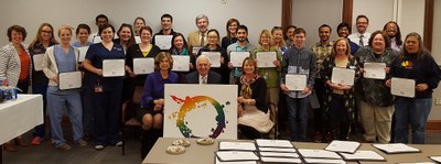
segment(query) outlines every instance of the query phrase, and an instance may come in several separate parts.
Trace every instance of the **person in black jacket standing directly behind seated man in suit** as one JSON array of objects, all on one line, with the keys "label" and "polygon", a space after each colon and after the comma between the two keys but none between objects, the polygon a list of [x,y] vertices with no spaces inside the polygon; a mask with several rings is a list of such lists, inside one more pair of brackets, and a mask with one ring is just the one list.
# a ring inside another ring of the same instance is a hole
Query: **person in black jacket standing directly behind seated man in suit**
[{"label": "person in black jacket standing directly behind seated man in suit", "polygon": [[[219,45],[219,32],[215,29],[208,30],[207,32],[208,35],[208,44],[203,46],[200,52],[197,53],[197,56],[192,56],[191,63],[193,65],[196,65],[196,58],[201,56],[204,53],[213,53],[213,54],[206,54],[207,56],[211,55],[216,55],[218,53],[219,55],[219,63],[217,61],[213,61],[211,64],[211,69],[213,72],[218,73],[222,76],[222,84],[228,84],[229,83],[229,68],[228,68],[228,55],[227,52]],[[217,57],[216,57],[217,58]],[[216,63],[216,64],[214,64]]]}]

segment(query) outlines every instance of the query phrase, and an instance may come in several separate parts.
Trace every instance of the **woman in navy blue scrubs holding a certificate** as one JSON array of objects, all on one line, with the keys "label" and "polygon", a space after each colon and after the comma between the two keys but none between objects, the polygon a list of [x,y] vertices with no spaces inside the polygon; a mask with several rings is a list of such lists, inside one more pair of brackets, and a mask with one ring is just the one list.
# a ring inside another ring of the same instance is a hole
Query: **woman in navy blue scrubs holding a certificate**
[{"label": "woman in navy blue scrubs holding a certificate", "polygon": [[[120,44],[112,42],[112,25],[100,25],[98,32],[101,42],[89,46],[83,65],[90,72],[84,78],[86,85],[90,85],[93,89],[95,149],[103,150],[106,145],[122,145],[118,135],[122,77],[109,75],[115,72],[119,74],[120,70],[123,73],[120,61],[125,58],[125,53]],[[104,67],[105,64],[121,67]]]}]

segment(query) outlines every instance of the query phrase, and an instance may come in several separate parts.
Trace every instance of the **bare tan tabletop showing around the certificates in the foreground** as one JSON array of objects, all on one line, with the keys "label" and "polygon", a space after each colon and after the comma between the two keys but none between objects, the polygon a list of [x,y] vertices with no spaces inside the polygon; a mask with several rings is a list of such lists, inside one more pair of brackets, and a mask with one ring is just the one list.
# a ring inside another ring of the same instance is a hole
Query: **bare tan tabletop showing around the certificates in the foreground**
[{"label": "bare tan tabletop showing around the certificates in the foreground", "polygon": [[[189,139],[191,146],[185,150],[184,154],[171,155],[165,152],[166,147],[171,143],[178,140],[175,138],[160,138],[154,144],[153,149],[142,161],[142,164],[162,164],[162,163],[180,163],[180,164],[209,164],[214,163],[214,152],[217,151],[219,141],[235,141],[235,140],[215,140],[212,145],[200,145],[196,143],[196,139]],[[243,140],[244,141],[244,140]],[[251,142],[251,141],[245,141]],[[313,142],[294,142],[297,149],[324,149],[327,143],[313,143]],[[362,143],[359,150],[373,150],[386,157],[386,163],[398,163],[398,162],[429,162],[431,161],[428,156],[441,155],[441,145],[439,144],[409,144],[410,146],[421,150],[421,153],[405,153],[405,154],[386,154],[381,151],[372,146],[370,143]],[[348,162],[357,163],[357,162]],[[372,162],[372,161],[359,161],[359,163],[385,163],[385,162]]]}]

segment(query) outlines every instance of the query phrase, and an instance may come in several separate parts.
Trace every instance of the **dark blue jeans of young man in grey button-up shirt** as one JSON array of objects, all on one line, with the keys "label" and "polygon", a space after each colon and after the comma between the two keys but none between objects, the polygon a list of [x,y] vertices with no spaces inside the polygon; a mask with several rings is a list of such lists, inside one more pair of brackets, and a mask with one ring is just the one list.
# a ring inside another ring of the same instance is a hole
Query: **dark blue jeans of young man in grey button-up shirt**
[{"label": "dark blue jeans of young man in grey button-up shirt", "polygon": [[288,120],[291,127],[291,141],[306,141],[308,97],[291,98],[287,96]]}]

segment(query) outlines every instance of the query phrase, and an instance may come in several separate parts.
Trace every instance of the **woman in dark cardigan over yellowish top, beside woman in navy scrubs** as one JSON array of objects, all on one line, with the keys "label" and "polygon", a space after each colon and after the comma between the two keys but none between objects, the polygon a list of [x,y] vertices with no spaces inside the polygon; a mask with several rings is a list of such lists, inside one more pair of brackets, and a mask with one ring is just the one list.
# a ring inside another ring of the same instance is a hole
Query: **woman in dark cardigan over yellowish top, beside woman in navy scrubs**
[{"label": "woman in dark cardigan over yellowish top, beside woman in navy scrubs", "polygon": [[[126,54],[126,72],[129,74],[129,76],[127,77],[127,80],[125,80],[126,87],[123,92],[127,94],[125,94],[125,98],[122,100],[132,99],[135,89],[137,87],[143,87],[148,75],[147,73],[144,74],[139,72],[138,74],[136,74],[137,72],[135,72],[133,69],[133,59],[151,58],[153,61],[154,57],[157,57],[157,55],[161,52],[161,50],[157,45],[150,43],[150,39],[152,37],[153,33],[150,26],[142,26],[141,29],[139,29],[139,32],[141,43],[132,44],[131,46],[129,46]],[[153,70],[153,65],[150,66],[151,70]]]}]

